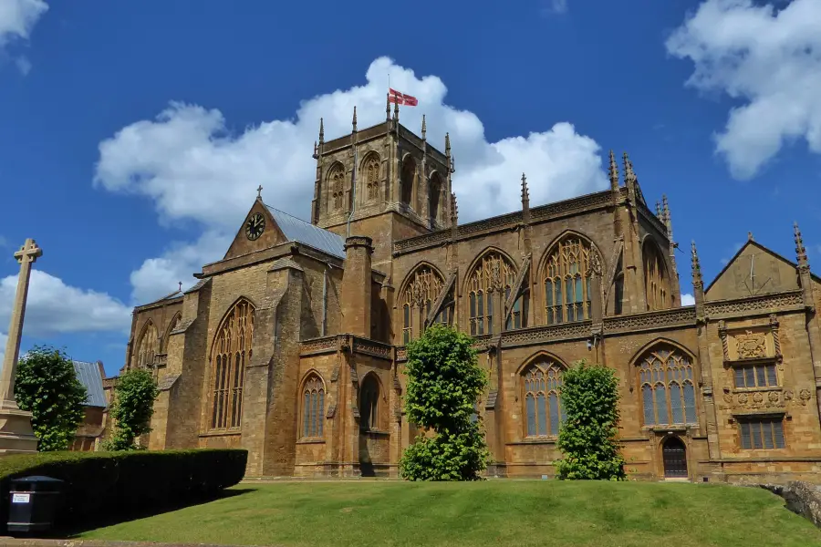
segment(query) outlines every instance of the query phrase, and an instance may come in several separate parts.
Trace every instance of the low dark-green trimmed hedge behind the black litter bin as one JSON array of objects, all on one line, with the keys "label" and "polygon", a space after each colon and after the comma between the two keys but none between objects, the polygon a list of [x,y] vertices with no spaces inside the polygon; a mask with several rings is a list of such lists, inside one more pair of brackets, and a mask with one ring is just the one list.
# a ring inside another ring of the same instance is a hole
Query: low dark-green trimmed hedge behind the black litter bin
[{"label": "low dark-green trimmed hedge behind the black litter bin", "polygon": [[43,452],[0,458],[0,529],[8,521],[11,480],[64,480],[58,528],[82,527],[216,496],[243,479],[247,450]]}]

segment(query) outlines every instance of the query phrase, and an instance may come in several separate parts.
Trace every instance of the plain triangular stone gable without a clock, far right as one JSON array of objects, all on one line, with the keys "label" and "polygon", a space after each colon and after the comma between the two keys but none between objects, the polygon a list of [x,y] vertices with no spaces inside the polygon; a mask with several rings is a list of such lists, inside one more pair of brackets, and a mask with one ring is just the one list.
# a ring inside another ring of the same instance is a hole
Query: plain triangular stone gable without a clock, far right
[{"label": "plain triangular stone gable without a clock, far right", "polygon": [[707,300],[748,298],[800,288],[795,263],[750,240],[707,287]]}]

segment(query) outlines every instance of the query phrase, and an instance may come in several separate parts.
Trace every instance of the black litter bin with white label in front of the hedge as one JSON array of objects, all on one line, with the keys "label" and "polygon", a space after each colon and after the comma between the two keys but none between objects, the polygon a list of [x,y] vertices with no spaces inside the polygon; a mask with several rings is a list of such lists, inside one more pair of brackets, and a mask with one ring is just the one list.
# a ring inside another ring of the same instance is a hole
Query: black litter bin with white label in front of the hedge
[{"label": "black litter bin with white label in front of the hedge", "polygon": [[51,477],[11,480],[8,492],[8,532],[46,532],[54,525],[63,481]]}]

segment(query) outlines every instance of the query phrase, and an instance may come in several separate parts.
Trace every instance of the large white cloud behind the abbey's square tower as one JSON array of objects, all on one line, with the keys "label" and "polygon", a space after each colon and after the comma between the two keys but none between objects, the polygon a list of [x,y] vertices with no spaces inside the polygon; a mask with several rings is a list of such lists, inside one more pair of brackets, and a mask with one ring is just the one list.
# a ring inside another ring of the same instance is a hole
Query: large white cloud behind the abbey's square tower
[{"label": "large white cloud behind the abbey's square tower", "polygon": [[445,132],[451,134],[460,222],[519,209],[523,171],[532,206],[607,187],[598,144],[571,124],[489,142],[475,114],[445,104],[442,79],[417,77],[387,57],[371,63],[362,86],[309,98],[293,117],[242,134],[228,131],[215,108],[172,102],[157,119],[132,123],[99,145],[99,187],[148,197],[160,222],[193,220],[208,233],[143,263],[131,275],[135,297],[145,302],[171,292],[177,281],[190,285],[192,271],[222,258],[223,243],[239,228],[258,184],[267,203],[308,218],[319,118],[326,139],[349,134],[355,105],[359,129],[384,120],[389,73],[392,88],[420,100],[419,107],[400,108],[403,125],[418,131],[424,113],[428,139],[441,150]]}]

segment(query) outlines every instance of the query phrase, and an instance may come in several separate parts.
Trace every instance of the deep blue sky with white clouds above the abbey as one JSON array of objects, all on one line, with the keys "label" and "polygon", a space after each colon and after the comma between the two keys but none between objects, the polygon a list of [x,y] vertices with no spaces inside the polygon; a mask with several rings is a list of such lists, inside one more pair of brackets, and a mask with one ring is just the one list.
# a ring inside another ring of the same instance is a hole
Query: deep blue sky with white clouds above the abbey
[{"label": "deep blue sky with white clouds above the abbey", "polygon": [[451,132],[461,222],[522,171],[534,205],[603,188],[613,149],[708,281],[747,232],[794,258],[795,221],[821,263],[817,0],[0,0],[0,342],[34,237],[23,349],[115,372],[131,307],[220,258],[257,185],[307,217],[318,118],[382,119],[389,74]]}]

